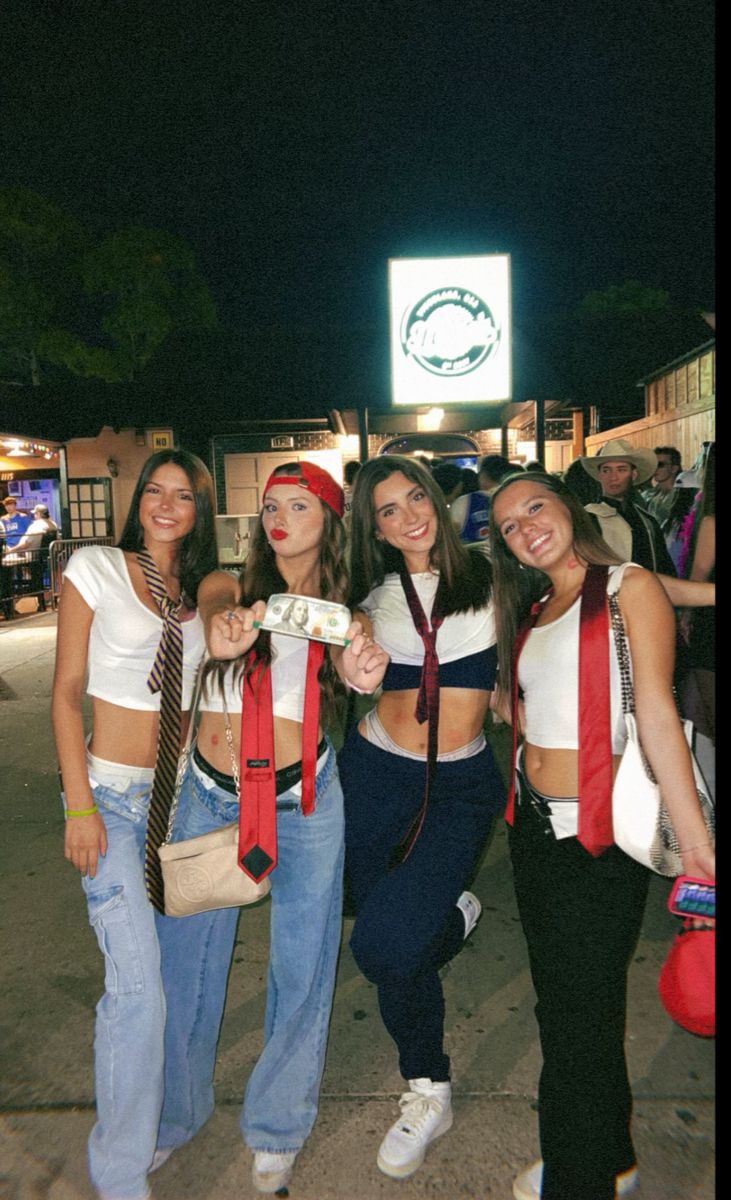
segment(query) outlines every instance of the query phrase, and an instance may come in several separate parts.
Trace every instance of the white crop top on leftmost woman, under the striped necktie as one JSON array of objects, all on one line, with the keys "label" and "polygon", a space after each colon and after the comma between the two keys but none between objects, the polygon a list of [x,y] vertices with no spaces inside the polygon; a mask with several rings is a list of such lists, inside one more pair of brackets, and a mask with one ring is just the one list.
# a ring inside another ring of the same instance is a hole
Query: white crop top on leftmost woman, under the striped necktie
[{"label": "white crop top on leftmost woman, under the striped necktie", "polygon": [[[89,634],[86,691],[120,708],[158,712],[160,692],[148,688],[148,676],[162,634],[162,617],[142,602],[116,546],[82,546],[68,559],[65,578],[94,611]],[[190,708],[196,671],[205,640],[196,612],[181,622],[182,708]]]}]

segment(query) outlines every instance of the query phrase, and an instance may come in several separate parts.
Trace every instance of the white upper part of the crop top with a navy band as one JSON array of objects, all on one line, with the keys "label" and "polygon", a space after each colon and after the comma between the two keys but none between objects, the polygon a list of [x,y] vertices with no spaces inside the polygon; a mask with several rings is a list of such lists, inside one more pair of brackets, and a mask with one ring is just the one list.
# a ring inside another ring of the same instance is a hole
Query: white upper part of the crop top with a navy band
[{"label": "white upper part of the crop top with a navy band", "polygon": [[[412,583],[421,601],[425,614],[431,620],[435,596],[439,586],[438,572],[412,575]],[[369,593],[358,605],[373,622],[373,637],[390,654],[391,661],[421,666],[424,642],[412,620],[401,578],[387,575],[383,583]],[[358,613],[354,614],[358,618]],[[495,611],[492,602],[484,608],[456,612],[447,617],[437,632],[439,662],[453,662],[479,650],[495,646]]]}]

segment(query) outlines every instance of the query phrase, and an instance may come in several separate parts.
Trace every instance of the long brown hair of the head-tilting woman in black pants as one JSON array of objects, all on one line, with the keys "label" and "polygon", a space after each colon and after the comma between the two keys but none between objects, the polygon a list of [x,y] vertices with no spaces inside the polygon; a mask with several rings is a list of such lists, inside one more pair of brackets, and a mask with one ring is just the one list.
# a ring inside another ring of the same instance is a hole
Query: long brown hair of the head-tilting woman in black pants
[{"label": "long brown hair of the head-tilting woman in black pants", "polygon": [[508,548],[496,517],[495,502],[514,484],[529,481],[543,486],[558,497],[567,509],[574,529],[574,553],[587,566],[592,564],[613,566],[622,562],[611,546],[607,546],[599,534],[594,522],[570,487],[557,475],[544,472],[515,473],[505,476],[490,498],[490,539],[492,546],[492,568],[495,575],[495,614],[497,624],[498,686],[502,697],[510,698],[513,672],[513,644],[520,625],[531,611],[531,606],[549,589],[551,581],[534,566],[519,563]]}]

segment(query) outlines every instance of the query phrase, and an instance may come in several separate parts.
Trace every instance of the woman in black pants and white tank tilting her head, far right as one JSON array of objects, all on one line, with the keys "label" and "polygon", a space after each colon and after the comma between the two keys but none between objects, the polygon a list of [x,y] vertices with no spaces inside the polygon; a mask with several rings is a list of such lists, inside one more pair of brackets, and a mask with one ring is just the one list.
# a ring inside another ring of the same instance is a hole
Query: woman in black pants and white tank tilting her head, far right
[{"label": "woman in black pants and white tank tilting her head, far right", "polygon": [[510,854],[544,1060],[541,1159],[513,1190],[516,1200],[615,1200],[637,1182],[624,1031],[649,871],[612,842],[611,784],[625,734],[609,596],[618,600],[640,738],[684,868],[714,878],[672,694],[675,614],[659,580],[621,562],[553,476],[505,479],[491,526],[497,707],[525,737],[507,812]]}]

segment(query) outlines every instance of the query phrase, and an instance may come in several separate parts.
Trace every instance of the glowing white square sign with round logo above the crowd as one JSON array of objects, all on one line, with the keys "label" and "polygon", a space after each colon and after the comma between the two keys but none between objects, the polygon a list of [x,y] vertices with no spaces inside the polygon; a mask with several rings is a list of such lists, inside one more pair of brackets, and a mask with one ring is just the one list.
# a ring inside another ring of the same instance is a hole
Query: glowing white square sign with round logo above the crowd
[{"label": "glowing white square sign with round logo above the crowd", "polygon": [[389,259],[394,404],[511,398],[510,256]]}]

